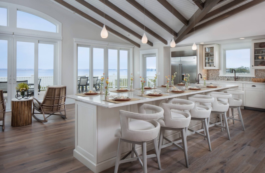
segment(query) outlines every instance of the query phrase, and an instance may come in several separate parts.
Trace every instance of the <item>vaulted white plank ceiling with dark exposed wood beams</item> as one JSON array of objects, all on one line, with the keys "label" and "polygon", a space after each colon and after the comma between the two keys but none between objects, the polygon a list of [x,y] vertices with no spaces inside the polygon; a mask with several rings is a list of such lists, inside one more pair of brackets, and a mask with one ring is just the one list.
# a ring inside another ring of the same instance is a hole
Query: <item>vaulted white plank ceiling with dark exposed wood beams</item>
[{"label": "vaulted white plank ceiling with dark exposed wood beams", "polygon": [[[265,0],[51,0],[140,47],[180,42],[185,35]],[[105,4],[105,5],[104,5]],[[104,19],[105,17],[105,19]],[[195,28],[193,27],[195,25]],[[100,36],[100,35],[99,35]]]}]

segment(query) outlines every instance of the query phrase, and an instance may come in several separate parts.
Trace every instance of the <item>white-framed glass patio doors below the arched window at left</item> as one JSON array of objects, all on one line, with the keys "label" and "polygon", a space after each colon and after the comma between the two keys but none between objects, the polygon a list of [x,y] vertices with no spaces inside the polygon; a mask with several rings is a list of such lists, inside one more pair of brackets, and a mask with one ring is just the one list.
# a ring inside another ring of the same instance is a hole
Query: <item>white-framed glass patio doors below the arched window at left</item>
[{"label": "white-framed glass patio doors below the arched window at left", "polygon": [[[49,85],[55,85],[56,42],[0,37],[0,89],[4,90],[7,109],[18,93],[18,82],[28,83],[31,97],[43,99]],[[7,87],[7,88],[6,88]]]}]

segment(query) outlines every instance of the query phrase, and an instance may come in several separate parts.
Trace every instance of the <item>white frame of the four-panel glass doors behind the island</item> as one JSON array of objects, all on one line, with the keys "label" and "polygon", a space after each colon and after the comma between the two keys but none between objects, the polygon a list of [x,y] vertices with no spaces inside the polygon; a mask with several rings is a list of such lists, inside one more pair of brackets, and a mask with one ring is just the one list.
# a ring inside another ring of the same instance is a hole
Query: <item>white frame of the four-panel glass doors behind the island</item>
[{"label": "white frame of the four-panel glass doors behind the island", "polygon": [[[119,67],[119,58],[120,58],[120,50],[128,50],[128,60],[127,60],[127,68],[128,68],[128,72],[127,72],[127,76],[128,79],[130,78],[131,73],[133,73],[133,45],[130,44],[119,44],[119,43],[111,43],[111,42],[105,42],[105,41],[95,41],[95,40],[85,40],[85,39],[77,39],[74,38],[74,81],[77,82],[78,76],[77,76],[77,71],[78,71],[78,67],[77,67],[77,63],[78,63],[78,57],[77,57],[77,46],[78,45],[86,45],[86,46],[90,46],[90,72],[89,72],[89,78],[92,79],[93,78],[93,57],[92,57],[92,53],[93,53],[93,48],[104,48],[104,73],[106,76],[108,76],[108,49],[116,49],[118,50],[118,67]],[[118,68],[119,69],[119,68]],[[120,74],[120,72],[118,71],[118,74]],[[119,77],[119,76],[118,76]],[[119,81],[118,81],[119,84]],[[127,85],[129,86],[129,80],[127,80]],[[104,83],[105,86],[105,83]],[[89,86],[91,87],[91,86]],[[118,85],[119,88],[119,85]],[[77,85],[74,84],[73,87],[73,92],[74,94],[77,93]],[[90,90],[92,89],[92,87],[90,88]]]}]

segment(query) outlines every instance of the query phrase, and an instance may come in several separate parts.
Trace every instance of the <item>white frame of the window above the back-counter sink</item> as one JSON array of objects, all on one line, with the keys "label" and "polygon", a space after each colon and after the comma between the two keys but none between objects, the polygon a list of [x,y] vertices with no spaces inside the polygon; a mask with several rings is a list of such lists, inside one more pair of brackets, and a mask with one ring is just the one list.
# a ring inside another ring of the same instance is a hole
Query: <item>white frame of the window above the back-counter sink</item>
[{"label": "white frame of the window above the back-counter sink", "polygon": [[236,76],[240,77],[254,77],[255,76],[255,69],[252,67],[252,60],[251,60],[251,42],[243,42],[243,43],[228,43],[228,44],[221,44],[220,45],[220,70],[219,70],[219,76],[234,76],[235,74],[226,74],[226,50],[238,50],[238,49],[250,49],[250,74],[237,74]]}]

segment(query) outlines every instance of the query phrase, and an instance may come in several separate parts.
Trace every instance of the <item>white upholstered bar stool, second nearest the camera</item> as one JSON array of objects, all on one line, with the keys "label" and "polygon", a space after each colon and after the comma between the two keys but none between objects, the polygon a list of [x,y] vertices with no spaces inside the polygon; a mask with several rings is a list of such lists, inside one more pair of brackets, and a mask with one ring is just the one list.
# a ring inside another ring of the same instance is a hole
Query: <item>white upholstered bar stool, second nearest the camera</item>
[{"label": "white upholstered bar stool, second nearest the camera", "polygon": [[[171,104],[162,104],[162,107],[165,112],[164,116],[158,120],[161,126],[158,142],[159,154],[161,152],[161,148],[174,145],[184,152],[186,167],[189,167],[186,132],[187,127],[189,126],[189,123],[191,121],[191,115],[189,113],[184,112],[183,110],[192,109],[194,107],[194,103],[192,101],[184,99],[171,99],[170,102]],[[176,142],[172,142],[167,139],[164,136],[165,130],[180,131],[183,147],[179,146]],[[163,139],[165,139],[169,143],[162,145]]]}]

